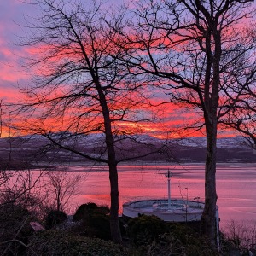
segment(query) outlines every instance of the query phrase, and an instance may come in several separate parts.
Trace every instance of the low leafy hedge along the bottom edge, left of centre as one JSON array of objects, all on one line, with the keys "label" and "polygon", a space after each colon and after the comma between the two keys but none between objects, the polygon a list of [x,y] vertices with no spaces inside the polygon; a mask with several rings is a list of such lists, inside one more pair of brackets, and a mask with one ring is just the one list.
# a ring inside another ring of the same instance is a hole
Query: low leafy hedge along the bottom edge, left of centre
[{"label": "low leafy hedge along the bottom edge, left of centre", "polygon": [[126,256],[127,249],[112,241],[97,238],[68,235],[61,230],[47,230],[35,233],[30,239],[27,256]]}]

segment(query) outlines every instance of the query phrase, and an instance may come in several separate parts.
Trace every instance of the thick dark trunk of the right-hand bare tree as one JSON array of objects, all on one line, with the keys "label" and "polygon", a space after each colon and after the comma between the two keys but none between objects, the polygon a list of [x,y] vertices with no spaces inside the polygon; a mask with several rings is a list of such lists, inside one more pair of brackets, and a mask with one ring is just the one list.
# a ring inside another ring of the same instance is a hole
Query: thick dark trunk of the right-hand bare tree
[{"label": "thick dark trunk of the right-hand bare tree", "polygon": [[[217,161],[217,131],[218,131],[218,90],[220,84],[219,67],[221,58],[221,37],[218,22],[212,24],[214,54],[212,55],[212,91],[208,91],[204,118],[207,131],[207,158],[205,169],[205,208],[202,214],[202,231],[206,234],[212,247],[218,248],[217,227],[217,193],[216,193],[216,161]],[[208,49],[209,51],[210,49]],[[210,89],[210,87],[209,87]]]}]

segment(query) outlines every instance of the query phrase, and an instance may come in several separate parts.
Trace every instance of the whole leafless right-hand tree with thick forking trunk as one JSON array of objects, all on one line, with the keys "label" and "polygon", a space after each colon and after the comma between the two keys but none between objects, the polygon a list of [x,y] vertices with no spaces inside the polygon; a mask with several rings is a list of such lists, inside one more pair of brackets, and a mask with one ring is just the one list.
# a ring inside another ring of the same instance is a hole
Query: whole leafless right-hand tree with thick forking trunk
[{"label": "whole leafless right-hand tree with thick forking trunk", "polygon": [[204,128],[207,137],[202,230],[213,247],[218,246],[218,124],[241,99],[250,105],[243,95],[255,87],[252,3],[143,1],[128,17],[131,21],[119,27],[123,37],[119,47],[126,49],[124,61],[131,73],[154,79],[156,88],[164,89],[171,102],[201,115],[197,128]]}]

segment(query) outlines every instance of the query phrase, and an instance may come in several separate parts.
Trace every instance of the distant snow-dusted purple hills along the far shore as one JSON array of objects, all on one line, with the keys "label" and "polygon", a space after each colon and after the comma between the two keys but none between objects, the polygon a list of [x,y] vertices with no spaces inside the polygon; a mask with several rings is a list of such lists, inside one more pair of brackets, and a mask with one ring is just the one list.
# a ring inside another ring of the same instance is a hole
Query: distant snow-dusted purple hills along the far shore
[{"label": "distant snow-dusted purple hills along the far shore", "polygon": [[[106,148],[102,134],[80,135],[55,134],[55,139],[69,148],[106,158]],[[137,156],[144,161],[203,162],[206,155],[205,137],[184,137],[168,142],[147,135],[135,137],[116,137],[116,151],[119,160]],[[163,147],[162,145],[165,144]],[[154,154],[148,154],[154,151]],[[223,137],[218,139],[218,162],[256,162],[256,150],[250,148],[242,137]],[[147,155],[148,154],[148,155]],[[139,157],[140,155],[146,155]],[[136,161],[131,160],[131,161]],[[54,147],[42,136],[10,137],[0,139],[0,168],[26,168],[37,166],[37,162],[81,162],[84,158]]]}]

